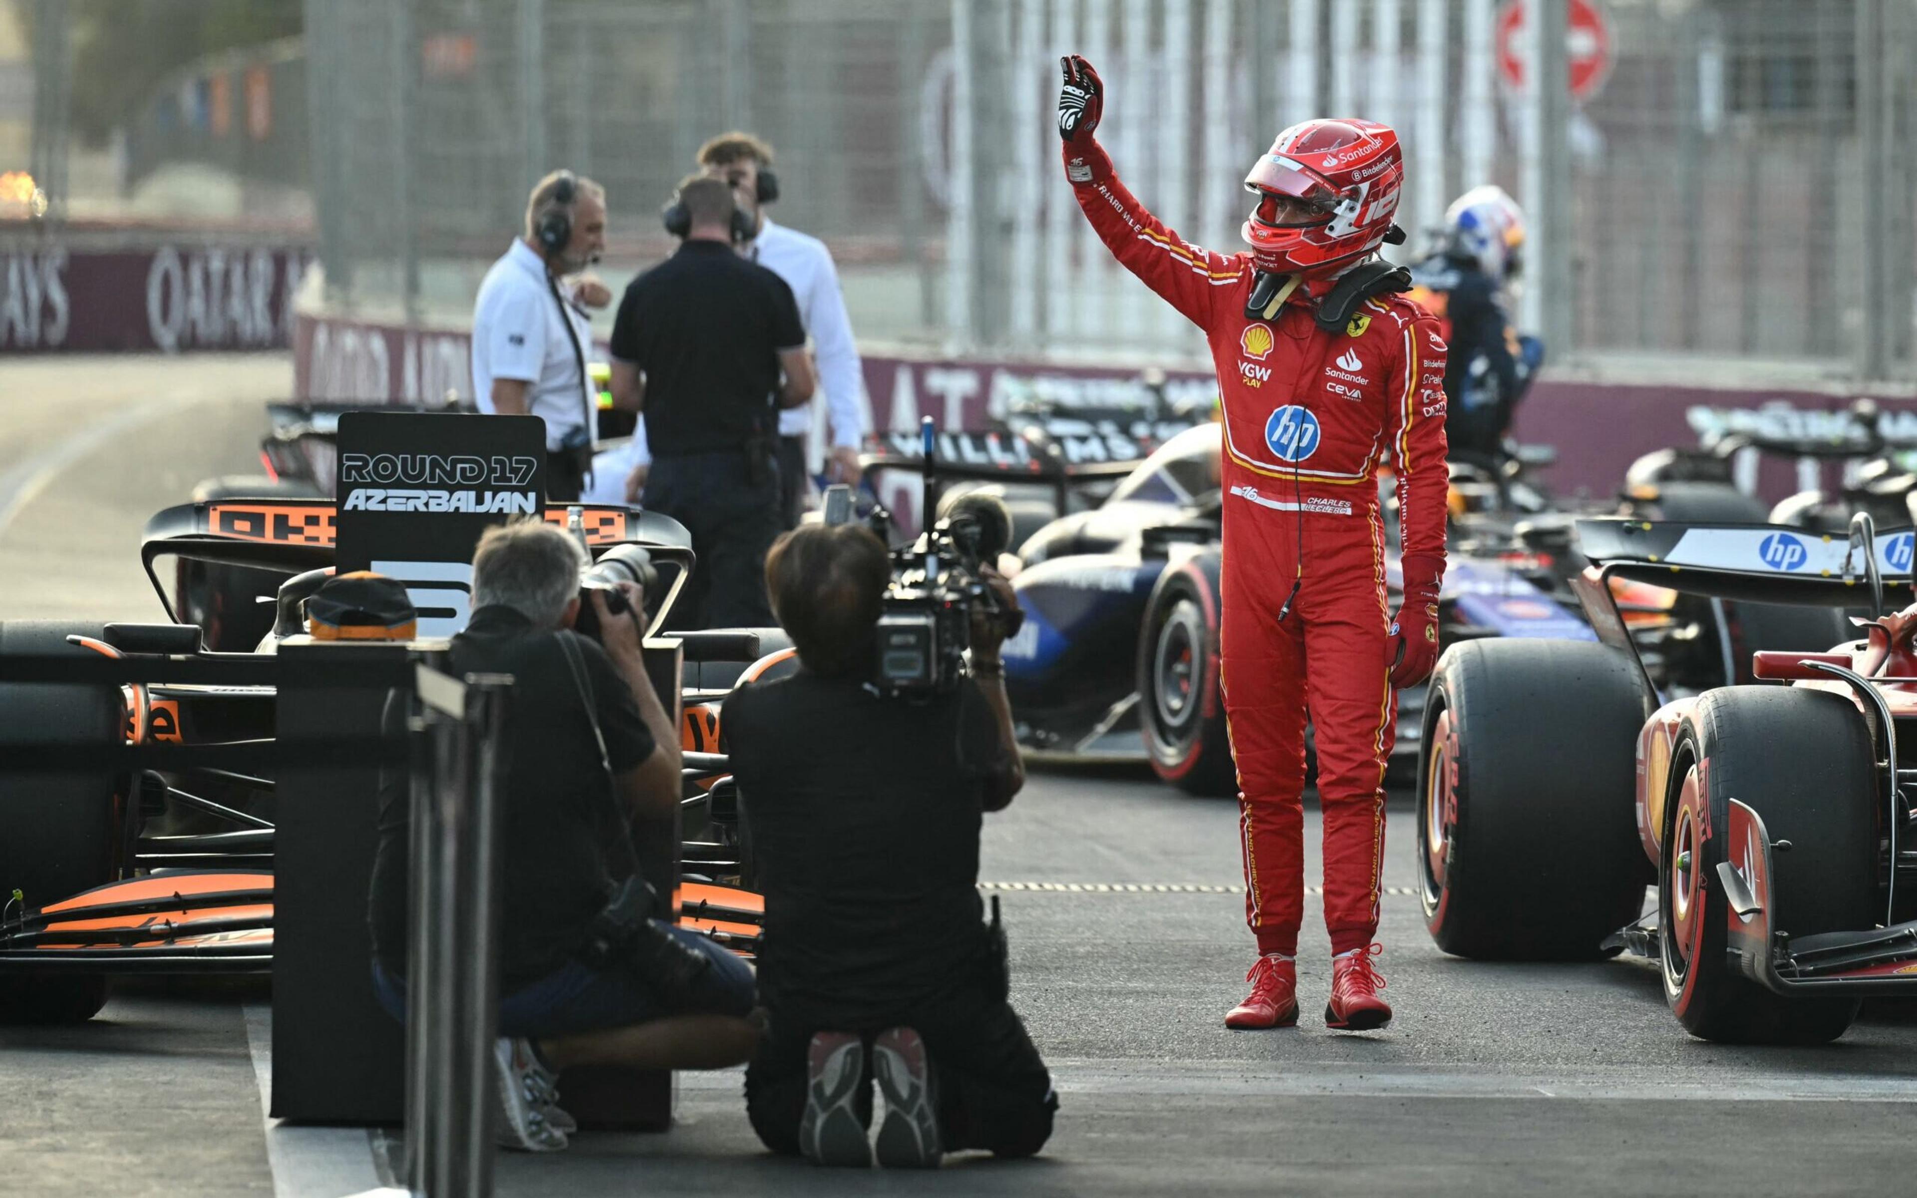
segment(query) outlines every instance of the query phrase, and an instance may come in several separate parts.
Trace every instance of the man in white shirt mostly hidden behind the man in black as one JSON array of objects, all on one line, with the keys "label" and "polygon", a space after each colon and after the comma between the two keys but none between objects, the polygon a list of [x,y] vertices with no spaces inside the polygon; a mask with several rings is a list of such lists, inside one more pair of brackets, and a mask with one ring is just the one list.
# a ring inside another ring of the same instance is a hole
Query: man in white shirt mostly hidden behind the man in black
[{"label": "man in white shirt mostly hidden behind the man in black", "polygon": [[[840,291],[838,266],[832,251],[819,238],[774,224],[765,205],[778,199],[778,176],[771,171],[773,148],[748,132],[725,132],[700,146],[700,167],[727,180],[734,201],[751,220],[753,236],[740,253],[769,268],[792,288],[799,305],[799,320],[811,337],[819,360],[819,383],[826,393],[826,412],[813,404],[788,408],[778,416],[778,470],[784,498],[786,527],[799,523],[805,510],[809,462],[815,460],[815,441],[828,447],[826,477],[834,483],[859,481],[859,445],[870,427],[865,403],[865,376],[859,349],[851,337],[851,318],[845,314],[845,295]],[[627,495],[644,489],[650,454],[644,429],[633,439],[633,475]]]}]

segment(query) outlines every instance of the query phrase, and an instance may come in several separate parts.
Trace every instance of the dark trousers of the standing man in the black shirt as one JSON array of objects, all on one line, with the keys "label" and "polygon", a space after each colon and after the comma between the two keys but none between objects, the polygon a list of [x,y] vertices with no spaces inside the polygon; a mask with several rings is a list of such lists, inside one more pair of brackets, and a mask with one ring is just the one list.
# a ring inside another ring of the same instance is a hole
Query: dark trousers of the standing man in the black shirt
[{"label": "dark trousers of the standing man in the black shirt", "polygon": [[773,627],[765,554],[780,525],[778,466],[771,452],[757,470],[738,449],[654,458],[640,502],[686,525],[698,554],[667,629]]}]

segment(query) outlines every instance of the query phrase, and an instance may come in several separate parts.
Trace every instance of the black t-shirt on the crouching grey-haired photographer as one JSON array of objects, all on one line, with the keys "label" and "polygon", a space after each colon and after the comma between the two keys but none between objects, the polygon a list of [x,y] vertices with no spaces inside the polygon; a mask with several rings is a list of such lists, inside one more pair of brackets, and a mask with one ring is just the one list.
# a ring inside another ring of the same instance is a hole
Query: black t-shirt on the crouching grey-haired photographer
[{"label": "black t-shirt on the crouching grey-haired photographer", "polygon": [[[619,774],[652,755],[654,738],[612,659],[571,633],[535,633],[512,608],[479,608],[452,640],[458,673],[514,677],[506,711],[506,813],[500,840],[500,989],[550,974],[579,947],[633,859],[612,847],[625,830],[600,763],[587,698],[560,638],[577,650]],[[380,962],[404,974],[408,795],[404,778],[380,795],[380,855],[372,872],[372,939]]]}]

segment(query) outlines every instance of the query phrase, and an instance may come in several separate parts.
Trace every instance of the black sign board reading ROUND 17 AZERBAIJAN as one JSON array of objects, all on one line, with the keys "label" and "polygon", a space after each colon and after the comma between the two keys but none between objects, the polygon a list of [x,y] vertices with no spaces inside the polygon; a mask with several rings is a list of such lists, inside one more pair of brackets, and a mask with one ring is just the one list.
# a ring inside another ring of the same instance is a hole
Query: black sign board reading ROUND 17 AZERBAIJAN
[{"label": "black sign board reading ROUND 17 AZERBAIJAN", "polygon": [[335,565],[399,579],[420,636],[466,627],[479,537],[546,504],[546,422],[460,412],[343,412]]}]

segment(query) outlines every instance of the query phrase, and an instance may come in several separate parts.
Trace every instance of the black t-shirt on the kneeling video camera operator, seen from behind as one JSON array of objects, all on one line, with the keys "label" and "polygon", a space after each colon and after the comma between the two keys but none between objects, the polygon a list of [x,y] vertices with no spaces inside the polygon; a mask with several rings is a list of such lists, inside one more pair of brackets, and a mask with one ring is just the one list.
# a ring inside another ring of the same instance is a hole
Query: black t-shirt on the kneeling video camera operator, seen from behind
[{"label": "black t-shirt on the kneeling video camera operator, seen from behind", "polygon": [[1003,769],[978,686],[914,705],[799,671],[728,696],[721,728],[765,891],[767,1004],[859,1025],[972,985]]}]

